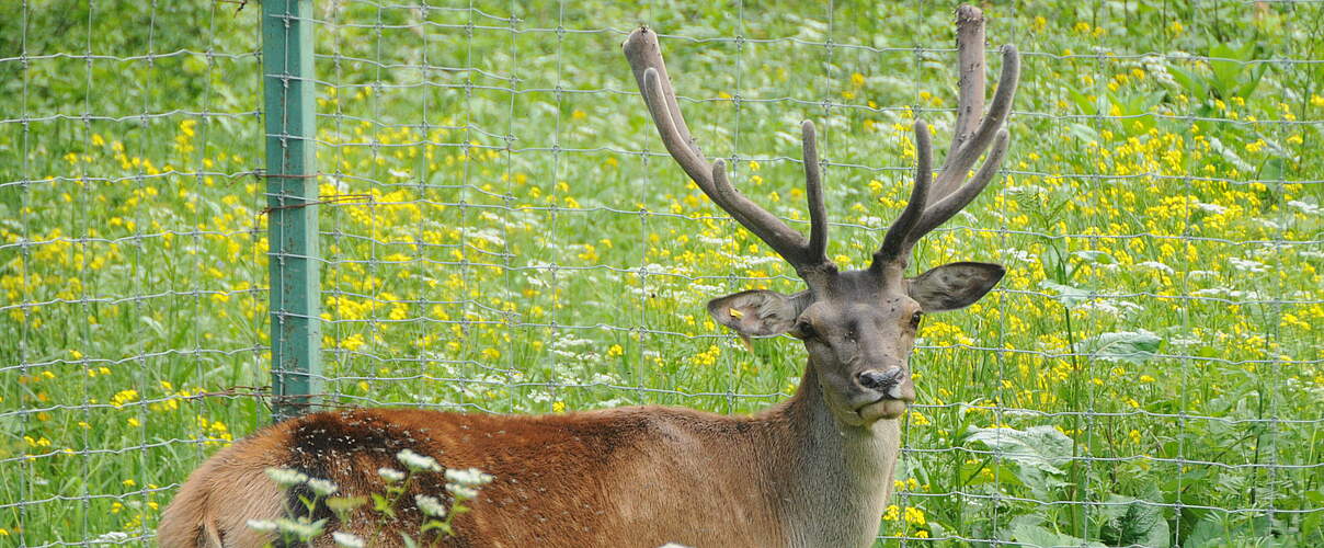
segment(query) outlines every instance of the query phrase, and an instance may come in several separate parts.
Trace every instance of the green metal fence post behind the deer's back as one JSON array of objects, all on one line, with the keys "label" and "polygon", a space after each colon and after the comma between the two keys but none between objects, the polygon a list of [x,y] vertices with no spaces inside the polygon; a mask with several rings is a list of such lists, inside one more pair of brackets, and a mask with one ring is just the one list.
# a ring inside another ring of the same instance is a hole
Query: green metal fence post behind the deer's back
[{"label": "green metal fence post behind the deer's back", "polygon": [[322,393],[312,0],[262,3],[273,418]]}]

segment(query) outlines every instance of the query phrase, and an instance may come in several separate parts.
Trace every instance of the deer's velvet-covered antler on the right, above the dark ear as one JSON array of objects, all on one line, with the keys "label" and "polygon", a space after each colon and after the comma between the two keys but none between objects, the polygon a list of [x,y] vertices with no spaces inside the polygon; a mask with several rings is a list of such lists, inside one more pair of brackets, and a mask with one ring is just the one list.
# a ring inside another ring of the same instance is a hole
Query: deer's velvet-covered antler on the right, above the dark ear
[{"label": "deer's velvet-covered antler on the right, above the dark ear", "polygon": [[[1021,57],[1016,48],[1002,46],[1002,74],[998,77],[997,91],[988,114],[980,118],[985,91],[984,13],[978,8],[963,5],[956,11],[956,25],[960,93],[952,148],[943,161],[937,180],[929,188],[932,151],[928,128],[923,120],[915,122],[915,147],[919,156],[915,189],[900,217],[887,229],[883,245],[874,253],[870,270],[880,273],[888,265],[898,265],[900,266],[898,270],[904,270],[915,242],[973,201],[993,180],[1006,154],[1008,134],[1002,126],[1012,111],[1012,98],[1016,97],[1016,85],[1021,77]],[[988,159],[984,160],[984,165],[967,180],[967,172],[985,151]]]}]

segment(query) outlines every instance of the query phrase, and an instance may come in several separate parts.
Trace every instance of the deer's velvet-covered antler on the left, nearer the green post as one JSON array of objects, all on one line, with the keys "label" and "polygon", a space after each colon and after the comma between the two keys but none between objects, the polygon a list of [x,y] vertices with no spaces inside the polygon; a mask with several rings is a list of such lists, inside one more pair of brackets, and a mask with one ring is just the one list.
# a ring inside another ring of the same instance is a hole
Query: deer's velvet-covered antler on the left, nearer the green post
[{"label": "deer's velvet-covered antler on the left, nearer the green post", "polygon": [[[731,185],[727,179],[726,163],[716,160],[708,164],[707,158],[694,143],[690,130],[681,115],[675,90],[662,61],[662,50],[657,34],[647,28],[638,28],[625,40],[625,58],[630,62],[636,82],[649,106],[653,122],[662,136],[662,144],[681,168],[694,179],[699,189],[718,206],[731,214],[749,232],[767,242],[786,259],[797,271],[826,263],[826,214],[822,205],[822,191],[818,181],[817,150],[813,143],[813,126],[808,124],[805,136],[805,175],[809,179],[810,241],[788,226],[781,218],[749,201]],[[813,159],[809,160],[809,155]]]}]

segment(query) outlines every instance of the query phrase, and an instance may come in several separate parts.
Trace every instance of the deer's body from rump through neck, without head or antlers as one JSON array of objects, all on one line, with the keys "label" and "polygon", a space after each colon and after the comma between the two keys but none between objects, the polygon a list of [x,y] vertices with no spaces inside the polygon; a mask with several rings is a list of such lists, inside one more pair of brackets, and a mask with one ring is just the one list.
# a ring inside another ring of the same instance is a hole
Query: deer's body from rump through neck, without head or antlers
[{"label": "deer's body from rump through neck, without head or antlers", "polygon": [[[399,467],[396,451],[408,447],[496,478],[446,545],[867,545],[891,491],[896,421],[841,429],[808,380],[790,400],[748,417],[657,406],[534,417],[308,414],[208,461],[171,504],[159,541],[260,545],[266,537],[246,520],[282,516],[289,496],[267,479],[267,467],[331,479],[342,496],[368,495],[383,492],[377,469]],[[425,482],[417,487],[440,491]],[[241,500],[265,503],[236,504]],[[417,514],[401,518],[405,529],[417,531]],[[364,539],[373,539],[376,527],[355,519],[328,525]],[[395,545],[399,537],[373,540]]]}]

